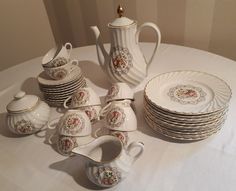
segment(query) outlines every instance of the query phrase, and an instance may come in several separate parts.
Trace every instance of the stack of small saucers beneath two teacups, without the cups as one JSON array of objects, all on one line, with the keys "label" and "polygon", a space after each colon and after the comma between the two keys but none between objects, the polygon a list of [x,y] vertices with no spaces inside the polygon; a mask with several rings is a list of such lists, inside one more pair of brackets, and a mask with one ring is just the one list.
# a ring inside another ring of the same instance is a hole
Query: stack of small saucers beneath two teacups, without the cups
[{"label": "stack of small saucers beneath two teacups, without the cups", "polygon": [[51,106],[62,106],[66,98],[81,87],[86,86],[86,80],[78,66],[62,80],[52,80],[43,71],[38,76],[39,88],[45,101]]}]

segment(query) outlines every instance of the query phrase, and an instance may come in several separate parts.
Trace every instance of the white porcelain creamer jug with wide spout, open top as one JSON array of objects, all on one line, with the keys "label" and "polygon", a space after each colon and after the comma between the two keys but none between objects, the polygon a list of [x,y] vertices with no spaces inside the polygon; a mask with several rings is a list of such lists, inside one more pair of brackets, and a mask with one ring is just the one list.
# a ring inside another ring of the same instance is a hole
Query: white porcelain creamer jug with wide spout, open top
[{"label": "white porcelain creamer jug with wide spout, open top", "polygon": [[91,182],[100,187],[113,187],[127,177],[143,150],[141,142],[132,142],[126,149],[118,138],[104,135],[74,148],[72,152],[87,159],[86,174]]}]

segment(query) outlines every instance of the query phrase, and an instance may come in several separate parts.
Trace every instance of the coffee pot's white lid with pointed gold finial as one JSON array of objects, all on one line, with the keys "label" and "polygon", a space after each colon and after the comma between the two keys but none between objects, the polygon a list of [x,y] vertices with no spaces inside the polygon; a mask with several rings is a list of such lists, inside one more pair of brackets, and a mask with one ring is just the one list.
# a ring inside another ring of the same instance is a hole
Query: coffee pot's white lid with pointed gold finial
[{"label": "coffee pot's white lid with pointed gold finial", "polygon": [[111,23],[109,23],[108,26],[110,26],[110,27],[123,27],[123,26],[131,25],[134,23],[133,20],[131,20],[127,17],[123,17],[124,9],[120,5],[117,8],[117,13],[118,13],[119,17],[116,18]]}]

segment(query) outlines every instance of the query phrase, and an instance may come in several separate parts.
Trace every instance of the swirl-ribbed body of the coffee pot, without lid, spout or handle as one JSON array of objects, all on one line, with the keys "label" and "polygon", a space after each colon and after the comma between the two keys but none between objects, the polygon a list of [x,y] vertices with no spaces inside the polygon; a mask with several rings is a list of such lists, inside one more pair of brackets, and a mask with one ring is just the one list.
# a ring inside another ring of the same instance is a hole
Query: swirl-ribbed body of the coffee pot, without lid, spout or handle
[{"label": "swirl-ribbed body of the coffee pot, without lid, spout or handle", "polygon": [[130,85],[139,84],[146,77],[147,64],[136,39],[136,22],[109,29],[111,49],[106,69],[110,79]]}]

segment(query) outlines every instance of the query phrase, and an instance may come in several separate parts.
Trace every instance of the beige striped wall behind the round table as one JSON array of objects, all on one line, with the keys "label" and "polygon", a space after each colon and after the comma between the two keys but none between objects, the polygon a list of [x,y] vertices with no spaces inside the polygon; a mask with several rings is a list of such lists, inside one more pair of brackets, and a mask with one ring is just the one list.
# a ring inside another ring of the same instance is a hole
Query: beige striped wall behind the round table
[{"label": "beige striped wall behind the round table", "polygon": [[[91,25],[109,42],[106,26],[120,3],[139,24],[156,23],[162,42],[236,60],[236,0],[1,0],[0,70],[45,54],[54,39],[74,47],[94,44]],[[152,31],[141,40],[153,41]]]}]

